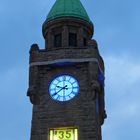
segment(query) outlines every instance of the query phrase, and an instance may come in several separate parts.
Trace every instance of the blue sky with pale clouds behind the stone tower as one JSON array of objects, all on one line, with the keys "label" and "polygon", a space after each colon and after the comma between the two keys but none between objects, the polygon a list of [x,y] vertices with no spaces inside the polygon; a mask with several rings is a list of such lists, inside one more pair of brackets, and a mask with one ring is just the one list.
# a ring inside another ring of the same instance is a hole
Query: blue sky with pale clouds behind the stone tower
[{"label": "blue sky with pale clouds behind the stone tower", "polygon": [[[81,0],[105,61],[103,140],[139,140],[140,1]],[[29,49],[44,48],[42,24],[55,0],[0,0],[0,137],[29,140]]]}]

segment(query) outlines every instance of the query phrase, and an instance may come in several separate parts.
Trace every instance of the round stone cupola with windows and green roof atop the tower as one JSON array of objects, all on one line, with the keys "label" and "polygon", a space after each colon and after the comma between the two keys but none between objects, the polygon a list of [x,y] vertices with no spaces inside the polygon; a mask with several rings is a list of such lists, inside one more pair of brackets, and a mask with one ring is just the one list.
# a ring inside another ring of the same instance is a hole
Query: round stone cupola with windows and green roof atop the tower
[{"label": "round stone cupola with windows and green roof atop the tower", "polygon": [[86,47],[93,30],[80,0],[56,0],[42,27],[45,48]]}]

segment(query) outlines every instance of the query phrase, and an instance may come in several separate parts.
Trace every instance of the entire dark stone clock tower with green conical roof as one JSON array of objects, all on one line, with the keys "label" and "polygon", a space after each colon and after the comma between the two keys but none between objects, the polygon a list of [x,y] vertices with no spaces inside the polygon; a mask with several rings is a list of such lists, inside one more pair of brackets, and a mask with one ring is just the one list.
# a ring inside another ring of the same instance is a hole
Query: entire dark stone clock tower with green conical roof
[{"label": "entire dark stone clock tower with green conical roof", "polygon": [[80,0],[56,0],[30,49],[30,140],[102,140],[104,62]]}]

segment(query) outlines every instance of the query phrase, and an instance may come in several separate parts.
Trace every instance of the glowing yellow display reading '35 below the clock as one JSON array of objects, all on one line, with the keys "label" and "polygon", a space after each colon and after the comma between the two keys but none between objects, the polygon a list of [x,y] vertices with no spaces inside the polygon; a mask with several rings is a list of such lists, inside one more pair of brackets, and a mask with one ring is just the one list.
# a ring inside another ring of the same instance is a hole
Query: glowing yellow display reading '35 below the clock
[{"label": "glowing yellow display reading '35 below the clock", "polygon": [[62,127],[49,130],[50,140],[78,140],[78,128]]}]

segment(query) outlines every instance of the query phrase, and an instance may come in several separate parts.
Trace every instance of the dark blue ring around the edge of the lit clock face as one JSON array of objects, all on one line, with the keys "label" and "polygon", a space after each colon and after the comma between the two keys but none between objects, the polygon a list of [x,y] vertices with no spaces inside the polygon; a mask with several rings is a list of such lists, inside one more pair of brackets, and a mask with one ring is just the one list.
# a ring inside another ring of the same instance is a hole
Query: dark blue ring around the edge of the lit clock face
[{"label": "dark blue ring around the edge of the lit clock face", "polygon": [[[54,79],[56,79],[57,77],[63,76],[63,75],[71,76],[71,77],[73,77],[73,78],[77,81],[77,83],[78,83],[78,92],[77,92],[77,94],[74,96],[74,97],[76,97],[76,96],[78,95],[78,93],[79,93],[79,90],[80,90],[79,81],[77,80],[77,77],[76,77],[74,74],[71,74],[71,73],[59,73],[59,74],[54,75],[54,76],[50,79],[49,84],[48,84],[48,93],[49,93],[49,95],[50,95],[49,89],[50,89],[50,85],[51,85],[52,81],[53,81]],[[50,97],[52,98],[51,95],[50,95]],[[73,98],[74,98],[74,97],[73,97]],[[68,101],[71,101],[73,98],[71,98],[70,100],[67,100],[67,101],[59,101],[59,100],[55,100],[54,98],[52,98],[52,99],[53,99],[54,101],[56,101],[56,102],[68,102]]]}]

